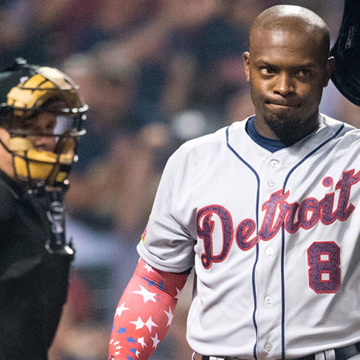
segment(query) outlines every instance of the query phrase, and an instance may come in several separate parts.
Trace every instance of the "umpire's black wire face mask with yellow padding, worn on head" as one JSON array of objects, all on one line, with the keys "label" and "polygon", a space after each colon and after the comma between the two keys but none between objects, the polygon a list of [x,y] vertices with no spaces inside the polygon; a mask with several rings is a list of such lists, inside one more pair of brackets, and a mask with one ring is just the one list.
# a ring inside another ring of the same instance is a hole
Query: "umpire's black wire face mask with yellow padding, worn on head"
[{"label": "umpire's black wire face mask with yellow padding, worn on head", "polygon": [[58,69],[19,58],[0,71],[0,126],[10,134],[0,143],[12,155],[15,177],[63,184],[77,161],[86,111],[78,86]]}]

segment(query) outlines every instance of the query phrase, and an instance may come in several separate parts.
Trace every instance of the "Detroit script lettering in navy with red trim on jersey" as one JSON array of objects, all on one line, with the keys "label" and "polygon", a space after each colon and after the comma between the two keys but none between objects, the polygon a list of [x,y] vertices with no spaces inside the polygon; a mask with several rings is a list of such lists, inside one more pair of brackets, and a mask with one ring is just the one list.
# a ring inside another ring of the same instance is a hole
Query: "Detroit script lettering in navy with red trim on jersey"
[{"label": "Detroit script lettering in navy with red trim on jersey", "polygon": [[[342,178],[337,182],[335,191],[339,193],[335,210],[335,192],[325,194],[321,200],[309,197],[301,203],[287,202],[290,190],[284,192],[284,189],[280,189],[272,193],[269,200],[262,204],[262,211],[265,211],[265,216],[260,230],[255,236],[253,235],[256,231],[256,224],[253,219],[244,219],[237,226],[235,240],[238,247],[242,250],[249,250],[260,240],[268,241],[278,233],[282,226],[284,226],[285,231],[294,234],[300,228],[312,228],[319,221],[324,225],[329,225],[336,220],[347,220],[355,209],[353,204],[348,204],[351,186],[360,180],[360,171],[354,173],[354,169],[344,171]],[[333,179],[331,177],[323,179],[325,188],[332,184]],[[222,226],[222,249],[217,255],[214,255],[212,251],[212,233],[215,226],[215,222],[211,219],[213,215],[219,217]],[[209,269],[213,262],[224,261],[228,256],[233,241],[233,232],[233,220],[225,207],[209,205],[197,212],[197,235],[203,239],[204,243],[204,253],[201,254],[201,260],[205,269]]]}]

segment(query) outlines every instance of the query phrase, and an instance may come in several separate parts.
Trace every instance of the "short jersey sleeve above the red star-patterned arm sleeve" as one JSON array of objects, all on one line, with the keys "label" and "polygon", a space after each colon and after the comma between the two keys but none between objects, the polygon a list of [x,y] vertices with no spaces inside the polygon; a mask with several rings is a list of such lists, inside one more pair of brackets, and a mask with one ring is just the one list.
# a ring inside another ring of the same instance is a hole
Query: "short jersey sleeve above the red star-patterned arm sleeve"
[{"label": "short jersey sleeve above the red star-patterned arm sleeve", "polygon": [[194,265],[196,216],[189,206],[188,149],[180,147],[168,159],[163,171],[148,224],[137,250],[151,266],[180,273]]}]

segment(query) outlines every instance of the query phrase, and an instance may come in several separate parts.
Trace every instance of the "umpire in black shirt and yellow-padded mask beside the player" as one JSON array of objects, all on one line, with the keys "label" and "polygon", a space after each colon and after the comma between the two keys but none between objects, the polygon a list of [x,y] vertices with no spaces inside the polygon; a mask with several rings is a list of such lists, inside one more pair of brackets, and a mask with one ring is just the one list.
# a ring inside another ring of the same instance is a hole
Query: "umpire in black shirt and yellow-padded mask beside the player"
[{"label": "umpire in black shirt and yellow-padded mask beside the player", "polygon": [[87,105],[55,68],[0,72],[0,359],[45,360],[74,249],[63,197]]}]

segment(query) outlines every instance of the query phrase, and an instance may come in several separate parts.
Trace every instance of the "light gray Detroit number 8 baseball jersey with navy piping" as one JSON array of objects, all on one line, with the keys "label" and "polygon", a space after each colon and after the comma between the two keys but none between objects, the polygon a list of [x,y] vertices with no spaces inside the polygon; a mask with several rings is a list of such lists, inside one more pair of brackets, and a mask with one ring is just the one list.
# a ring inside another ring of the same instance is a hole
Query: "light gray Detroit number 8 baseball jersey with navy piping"
[{"label": "light gray Detroit number 8 baseball jersey with navy piping", "polygon": [[140,256],[195,266],[187,339],[201,354],[280,359],[360,341],[360,131],[321,114],[271,153],[245,124],[170,157]]}]

